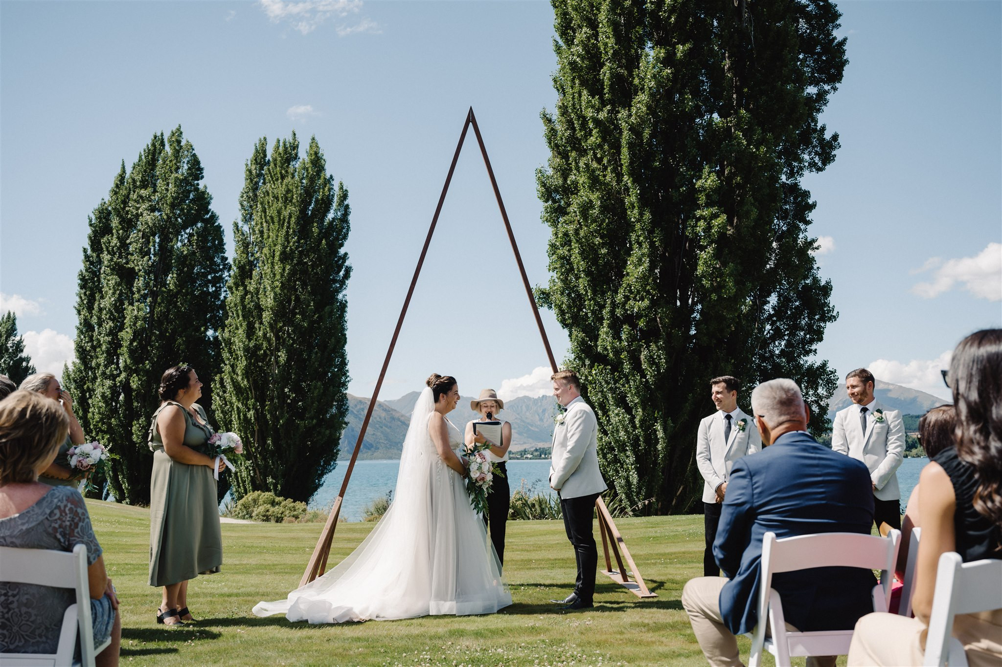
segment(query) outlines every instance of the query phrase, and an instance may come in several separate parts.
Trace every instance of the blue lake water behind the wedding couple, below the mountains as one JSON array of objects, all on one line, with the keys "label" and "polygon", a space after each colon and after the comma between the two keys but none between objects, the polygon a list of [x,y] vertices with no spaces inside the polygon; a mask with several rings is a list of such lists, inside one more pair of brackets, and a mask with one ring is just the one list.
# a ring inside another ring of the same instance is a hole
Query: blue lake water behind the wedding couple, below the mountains
[{"label": "blue lake water behind the wedding couple, below the mountains", "polygon": [[[912,489],[919,483],[919,473],[929,463],[929,459],[905,459],[898,468],[898,484],[901,487],[901,509]],[[400,461],[357,461],[348,491],[342,503],[341,516],[349,521],[361,521],[363,510],[374,500],[393,490],[397,485],[397,471]],[[324,486],[310,501],[311,509],[327,509],[334,502],[345,480],[348,462],[341,461],[338,467],[324,480]],[[546,480],[550,472],[549,459],[533,461],[509,461],[508,483],[514,493],[520,486],[530,495],[550,492]]]}]

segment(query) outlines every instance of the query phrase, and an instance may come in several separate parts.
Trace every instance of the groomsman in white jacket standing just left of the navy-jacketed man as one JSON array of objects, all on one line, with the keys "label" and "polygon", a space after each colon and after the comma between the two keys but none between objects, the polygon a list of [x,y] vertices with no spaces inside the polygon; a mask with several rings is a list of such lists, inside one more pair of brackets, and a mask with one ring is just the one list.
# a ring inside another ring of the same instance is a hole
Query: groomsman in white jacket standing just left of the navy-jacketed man
[{"label": "groomsman in white jacket standing just left of the navy-jacketed man", "polygon": [[737,407],[736,378],[723,375],[709,381],[710,398],[716,412],[699,422],[695,440],[695,464],[705,484],[702,487],[702,516],[706,548],[702,552],[702,576],[717,577],[720,569],[713,560],[713,539],[720,522],[720,503],[727,492],[727,478],[734,461],[762,449],[755,420]]}]

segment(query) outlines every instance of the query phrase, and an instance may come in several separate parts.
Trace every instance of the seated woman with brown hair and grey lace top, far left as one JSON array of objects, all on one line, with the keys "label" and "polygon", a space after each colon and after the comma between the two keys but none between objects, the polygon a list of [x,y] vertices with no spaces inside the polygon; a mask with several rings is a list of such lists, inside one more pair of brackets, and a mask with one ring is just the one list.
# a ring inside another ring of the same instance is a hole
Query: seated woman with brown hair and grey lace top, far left
[{"label": "seated woman with brown hair and grey lace top, far left", "polygon": [[[118,598],[104,570],[83,498],[74,489],[38,482],[69,418],[63,408],[35,392],[17,391],[0,402],[0,546],[72,551],[87,547],[87,582],[94,645],[111,637],[98,665],[117,665],[121,643]],[[55,653],[63,613],[76,601],[71,589],[0,582],[0,647],[10,653]]]}]

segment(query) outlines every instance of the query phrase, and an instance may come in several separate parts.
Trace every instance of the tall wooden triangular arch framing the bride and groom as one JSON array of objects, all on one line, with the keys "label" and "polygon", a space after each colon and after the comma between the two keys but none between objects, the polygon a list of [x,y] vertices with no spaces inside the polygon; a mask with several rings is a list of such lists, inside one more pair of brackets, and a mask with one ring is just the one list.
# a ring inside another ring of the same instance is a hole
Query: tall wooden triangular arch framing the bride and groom
[{"label": "tall wooden triangular arch framing the bride and groom", "polygon": [[[449,183],[452,182],[452,174],[456,170],[456,162],[459,160],[459,153],[463,149],[463,142],[466,140],[466,132],[473,127],[473,132],[477,137],[477,143],[480,145],[480,154],[484,158],[484,164],[487,166],[487,174],[491,179],[491,187],[494,188],[494,196],[498,200],[498,208],[501,209],[501,219],[504,220],[505,230],[508,232],[508,240],[511,241],[511,249],[515,252],[515,261],[518,263],[518,270],[522,274],[522,283],[525,285],[525,294],[529,297],[529,304],[532,306],[532,313],[536,317],[536,326],[539,327],[539,335],[542,336],[543,345],[546,348],[546,356],[549,358],[550,367],[553,372],[557,372],[557,362],[553,357],[553,351],[550,349],[550,341],[546,337],[546,329],[543,328],[543,320],[539,316],[539,308],[536,306],[536,299],[532,295],[532,287],[529,285],[529,278],[525,274],[525,266],[522,264],[522,256],[518,252],[518,245],[515,243],[515,235],[511,231],[511,224],[508,222],[508,213],[505,211],[504,202],[501,200],[501,191],[498,190],[497,180],[494,178],[494,170],[491,168],[491,161],[487,157],[487,148],[484,146],[483,137],[480,136],[480,128],[477,126],[477,118],[473,115],[473,107],[470,107],[469,113],[466,115],[466,120],[463,123],[463,132],[459,135],[459,143],[456,145],[456,153],[452,156],[452,164],[449,166],[449,174],[445,177],[445,185],[442,186],[442,194],[439,196],[438,206],[435,207],[435,215],[432,216],[431,227],[428,228],[428,236],[425,238],[425,245],[421,249],[421,256],[418,258],[418,266],[414,269],[414,277],[411,278],[411,286],[407,290],[407,298],[404,299],[404,307],[400,310],[400,318],[397,320],[397,328],[393,332],[393,338],[390,339],[390,349],[386,351],[386,359],[383,361],[383,368],[380,370],[379,379],[376,381],[376,387],[373,389],[373,396],[369,400],[369,409],[366,410],[366,417],[362,421],[362,428],[359,429],[359,439],[355,442],[355,451],[352,452],[352,459],[348,463],[348,470],[345,472],[345,480],[341,484],[341,491],[338,492],[338,497],[334,500],[334,505],[331,508],[331,514],[327,519],[327,523],[324,525],[324,532],[321,533],[320,539],[317,541],[317,547],[314,549],[313,556],[310,557],[310,563],[307,565],[306,572],[303,573],[303,579],[300,580],[300,586],[305,586],[310,583],[318,576],[324,574],[327,569],[327,558],[331,553],[331,543],[334,540],[334,531],[338,526],[338,517],[341,514],[341,504],[345,497],[345,491],[348,490],[348,482],[352,478],[352,470],[355,468],[355,461],[359,457],[359,451],[362,449],[362,441],[366,436],[366,430],[369,428],[369,420],[373,415],[373,410],[376,407],[376,401],[379,398],[379,390],[383,386],[383,378],[386,377],[387,368],[390,366],[390,358],[393,356],[393,349],[397,345],[397,337],[400,335],[400,329],[404,324],[404,317],[407,315],[407,307],[411,303],[411,296],[414,294],[414,286],[418,282],[418,276],[421,274],[421,267],[425,263],[425,255],[428,254],[428,246],[432,241],[432,234],[435,233],[435,226],[438,224],[439,213],[442,212],[442,204],[445,202],[445,195],[449,191]],[[623,541],[622,535],[619,534],[618,529],[616,529],[615,523],[612,521],[612,517],[609,514],[608,508],[605,507],[605,503],[599,497],[595,501],[596,508],[598,510],[598,529],[602,535],[602,550],[605,553],[605,570],[602,571],[603,574],[607,574],[613,581],[618,584],[625,586],[629,591],[641,598],[647,597],[657,597],[655,593],[651,593],[647,590],[646,584],[643,582],[643,578],[640,576],[640,572],[636,569],[636,565],[633,563],[633,558],[629,554],[629,550],[626,548],[626,542]],[[612,569],[612,561],[609,558],[609,549],[611,548],[612,553],[616,559],[616,569]],[[622,555],[620,555],[620,553]],[[626,564],[629,567],[627,570],[623,567],[623,558],[626,559]],[[629,574],[633,575],[635,581],[629,580]]]}]

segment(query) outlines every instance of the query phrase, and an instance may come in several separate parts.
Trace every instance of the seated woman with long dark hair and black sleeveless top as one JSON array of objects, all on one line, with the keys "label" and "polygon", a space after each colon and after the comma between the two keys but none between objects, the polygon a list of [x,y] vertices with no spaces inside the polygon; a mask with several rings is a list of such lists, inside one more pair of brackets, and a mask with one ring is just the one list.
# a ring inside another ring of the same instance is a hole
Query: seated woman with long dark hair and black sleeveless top
[{"label": "seated woman with long dark hair and black sleeveless top", "polygon": [[[919,478],[915,618],[864,616],[849,665],[921,665],[940,556],[955,551],[964,562],[1002,558],[1002,329],[962,340],[947,377],[957,411],[956,444],[939,452]],[[953,636],[972,667],[1002,665],[1002,609],[957,616]]]}]

